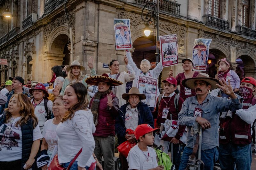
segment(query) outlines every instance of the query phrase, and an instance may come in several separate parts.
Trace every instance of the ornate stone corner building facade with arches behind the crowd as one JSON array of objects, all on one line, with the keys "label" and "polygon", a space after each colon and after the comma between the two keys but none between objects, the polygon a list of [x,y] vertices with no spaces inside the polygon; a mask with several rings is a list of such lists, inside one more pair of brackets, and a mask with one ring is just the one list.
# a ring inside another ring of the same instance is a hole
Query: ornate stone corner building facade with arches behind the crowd
[{"label": "ornate stone corner building facade with arches behind the crowd", "polygon": [[[47,82],[54,65],[71,61],[72,28],[74,59],[85,66],[94,59],[98,74],[109,72],[104,63],[117,59],[124,71],[124,51],[115,49],[114,18],[131,20],[133,60],[139,67],[144,58],[155,61],[155,32],[145,37],[141,11],[148,0],[0,0],[0,15],[12,12],[12,18],[0,17],[0,80],[21,76],[25,81]],[[192,57],[196,38],[212,38],[206,72],[213,77],[220,58],[231,59],[241,77],[256,77],[255,0],[160,0],[159,35],[177,34],[179,64]],[[65,8],[66,6],[66,8]],[[66,10],[65,10],[66,9]],[[66,11],[66,12],[65,12]],[[67,19],[68,18],[68,19]],[[153,24],[150,24],[154,30]],[[168,76],[164,68],[160,78]],[[160,79],[159,79],[160,80]]]}]

